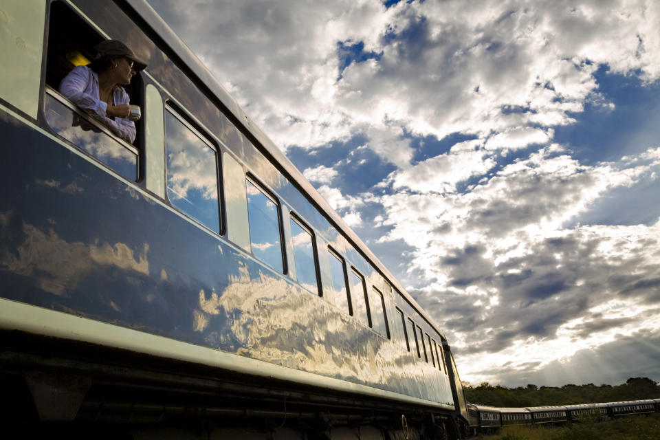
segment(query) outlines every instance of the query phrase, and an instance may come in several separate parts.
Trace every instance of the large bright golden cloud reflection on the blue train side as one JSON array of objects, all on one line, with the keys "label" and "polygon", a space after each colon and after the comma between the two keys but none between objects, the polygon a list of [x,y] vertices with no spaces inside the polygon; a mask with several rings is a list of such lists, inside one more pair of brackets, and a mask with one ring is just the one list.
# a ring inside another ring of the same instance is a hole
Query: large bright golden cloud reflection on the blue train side
[{"label": "large bright golden cloud reflection on the blue train side", "polygon": [[283,278],[263,270],[251,276],[247,263],[223,292],[201,289],[192,314],[193,329],[212,347],[274,364],[390,389],[410,388],[424,375],[396,344]]}]

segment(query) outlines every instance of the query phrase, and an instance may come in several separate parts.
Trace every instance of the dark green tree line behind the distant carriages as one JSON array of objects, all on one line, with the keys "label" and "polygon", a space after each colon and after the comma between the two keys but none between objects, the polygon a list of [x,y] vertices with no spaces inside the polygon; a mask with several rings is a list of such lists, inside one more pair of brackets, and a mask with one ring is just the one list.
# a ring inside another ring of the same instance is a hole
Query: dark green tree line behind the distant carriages
[{"label": "dark green tree line behind the distant carriages", "polygon": [[464,385],[467,401],[500,408],[660,399],[660,385],[648,377],[630,377],[625,384],[617,386],[569,384],[562,387],[541,386],[539,388],[529,384],[525,387],[507,388],[500,385],[492,386],[488,382],[476,387],[472,387],[470,384]]}]

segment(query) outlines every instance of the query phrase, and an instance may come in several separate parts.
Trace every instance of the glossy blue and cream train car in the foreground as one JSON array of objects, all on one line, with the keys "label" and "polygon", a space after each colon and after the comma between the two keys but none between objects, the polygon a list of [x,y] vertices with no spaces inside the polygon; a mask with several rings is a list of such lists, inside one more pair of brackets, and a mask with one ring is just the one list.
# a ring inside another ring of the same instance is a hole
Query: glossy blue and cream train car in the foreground
[{"label": "glossy blue and cream train car in the foreground", "polygon": [[[146,2],[1,9],[12,423],[459,437],[467,407],[441,330]],[[142,108],[133,143],[57,91],[107,39],[148,63],[126,87]]]}]

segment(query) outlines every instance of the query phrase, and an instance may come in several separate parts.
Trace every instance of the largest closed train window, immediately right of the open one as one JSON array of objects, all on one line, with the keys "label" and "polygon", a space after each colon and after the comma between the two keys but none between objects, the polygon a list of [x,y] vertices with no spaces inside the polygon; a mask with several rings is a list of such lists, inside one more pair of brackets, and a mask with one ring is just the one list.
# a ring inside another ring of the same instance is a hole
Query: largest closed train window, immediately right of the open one
[{"label": "largest closed train window, immediately right of the open one", "polygon": [[165,115],[166,181],[170,203],[220,232],[217,153],[173,110]]}]

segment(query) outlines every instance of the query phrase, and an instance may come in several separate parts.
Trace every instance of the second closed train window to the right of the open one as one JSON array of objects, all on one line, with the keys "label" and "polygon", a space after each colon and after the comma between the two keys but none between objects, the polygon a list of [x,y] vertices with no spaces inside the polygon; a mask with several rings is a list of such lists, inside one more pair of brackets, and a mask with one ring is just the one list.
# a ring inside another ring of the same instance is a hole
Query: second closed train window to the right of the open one
[{"label": "second closed train window to the right of the open one", "polygon": [[278,272],[284,272],[278,204],[250,179],[245,181],[252,253]]}]

